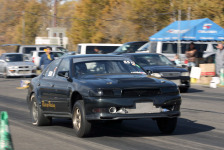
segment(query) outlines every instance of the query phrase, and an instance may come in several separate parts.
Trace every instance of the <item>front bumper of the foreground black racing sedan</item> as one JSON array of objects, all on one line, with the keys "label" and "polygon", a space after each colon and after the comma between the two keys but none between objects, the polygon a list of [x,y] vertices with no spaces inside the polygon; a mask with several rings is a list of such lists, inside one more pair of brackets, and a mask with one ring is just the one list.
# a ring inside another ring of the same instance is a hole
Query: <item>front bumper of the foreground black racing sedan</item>
[{"label": "front bumper of the foreground black racing sedan", "polygon": [[[127,119],[140,119],[140,118],[173,118],[180,116],[180,95],[159,95],[154,97],[140,97],[140,98],[93,98],[85,97],[85,112],[87,120],[127,120]],[[144,105],[137,108],[137,103],[152,103],[158,112],[142,112],[143,110],[152,109]],[[133,108],[139,109],[135,113],[111,113],[110,108],[117,108],[117,110]],[[144,108],[143,108],[144,107]],[[163,111],[166,110],[166,111]]]}]

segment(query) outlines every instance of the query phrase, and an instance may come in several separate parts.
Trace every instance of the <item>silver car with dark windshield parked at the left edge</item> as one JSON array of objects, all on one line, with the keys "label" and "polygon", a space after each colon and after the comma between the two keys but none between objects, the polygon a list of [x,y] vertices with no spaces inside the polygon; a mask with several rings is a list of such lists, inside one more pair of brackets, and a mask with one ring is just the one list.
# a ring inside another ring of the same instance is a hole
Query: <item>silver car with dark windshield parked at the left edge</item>
[{"label": "silver car with dark windshield parked at the left edge", "polygon": [[28,58],[20,53],[3,53],[0,57],[0,75],[36,76],[36,66],[27,61]]}]

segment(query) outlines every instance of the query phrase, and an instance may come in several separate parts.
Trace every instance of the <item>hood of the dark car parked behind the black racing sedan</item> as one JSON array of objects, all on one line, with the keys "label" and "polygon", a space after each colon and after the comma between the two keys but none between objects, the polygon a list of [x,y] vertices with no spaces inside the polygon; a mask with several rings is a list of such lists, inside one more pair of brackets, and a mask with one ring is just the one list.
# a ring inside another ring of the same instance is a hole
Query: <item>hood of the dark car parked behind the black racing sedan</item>
[{"label": "hood of the dark car parked behind the black racing sedan", "polygon": [[154,73],[159,72],[187,72],[184,68],[177,68],[173,66],[145,66],[143,67],[146,71],[151,70]]}]

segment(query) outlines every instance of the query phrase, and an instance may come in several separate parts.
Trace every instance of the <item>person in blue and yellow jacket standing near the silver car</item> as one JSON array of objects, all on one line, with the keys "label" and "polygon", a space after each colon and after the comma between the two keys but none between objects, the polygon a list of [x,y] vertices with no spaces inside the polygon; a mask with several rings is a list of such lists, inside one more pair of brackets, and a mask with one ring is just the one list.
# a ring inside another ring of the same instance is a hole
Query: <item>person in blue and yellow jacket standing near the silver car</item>
[{"label": "person in blue and yellow jacket standing near the silver car", "polygon": [[51,54],[51,47],[46,47],[45,54],[41,55],[40,59],[40,68],[41,70],[44,70],[53,60],[54,55]]}]

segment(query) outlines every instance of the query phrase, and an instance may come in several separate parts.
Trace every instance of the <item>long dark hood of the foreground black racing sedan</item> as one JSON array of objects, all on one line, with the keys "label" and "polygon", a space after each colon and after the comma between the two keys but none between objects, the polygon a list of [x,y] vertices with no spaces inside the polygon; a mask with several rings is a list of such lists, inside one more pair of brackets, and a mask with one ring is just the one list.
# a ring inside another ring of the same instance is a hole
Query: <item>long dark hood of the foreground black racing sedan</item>
[{"label": "long dark hood of the foreground black racing sedan", "polygon": [[78,80],[81,84],[90,88],[156,88],[176,86],[176,84],[166,79],[139,74],[88,75]]}]

